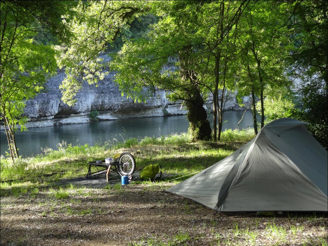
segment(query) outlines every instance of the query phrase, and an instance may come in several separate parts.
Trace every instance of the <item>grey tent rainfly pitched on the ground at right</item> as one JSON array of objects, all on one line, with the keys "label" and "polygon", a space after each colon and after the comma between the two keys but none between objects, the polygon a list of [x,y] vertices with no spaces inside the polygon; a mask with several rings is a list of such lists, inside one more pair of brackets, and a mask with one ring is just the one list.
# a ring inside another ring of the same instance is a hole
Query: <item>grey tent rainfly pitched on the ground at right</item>
[{"label": "grey tent rainfly pitched on the ground at right", "polygon": [[167,192],[221,212],[327,211],[327,151],[304,122],[281,118]]}]

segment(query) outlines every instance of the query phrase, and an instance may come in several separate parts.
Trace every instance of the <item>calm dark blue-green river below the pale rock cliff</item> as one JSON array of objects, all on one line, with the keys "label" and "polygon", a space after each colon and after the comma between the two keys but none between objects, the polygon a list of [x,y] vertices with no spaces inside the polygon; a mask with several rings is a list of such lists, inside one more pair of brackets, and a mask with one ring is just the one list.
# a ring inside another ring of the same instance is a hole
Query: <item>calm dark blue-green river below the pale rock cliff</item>
[{"label": "calm dark blue-green river below the pale rock cliff", "polygon": [[[226,122],[223,124],[223,129],[236,129],[243,113],[243,111],[224,112],[223,119]],[[123,141],[130,137],[160,137],[171,133],[183,133],[188,131],[188,126],[186,115],[177,115],[30,128],[27,132],[17,132],[15,136],[19,154],[26,157],[41,154],[42,149],[45,148],[57,150],[57,144],[62,141],[73,146],[86,143],[93,146],[106,141]],[[252,126],[252,113],[247,111],[239,124],[239,129],[250,126]],[[6,155],[8,142],[3,131],[0,138],[0,154]]]}]

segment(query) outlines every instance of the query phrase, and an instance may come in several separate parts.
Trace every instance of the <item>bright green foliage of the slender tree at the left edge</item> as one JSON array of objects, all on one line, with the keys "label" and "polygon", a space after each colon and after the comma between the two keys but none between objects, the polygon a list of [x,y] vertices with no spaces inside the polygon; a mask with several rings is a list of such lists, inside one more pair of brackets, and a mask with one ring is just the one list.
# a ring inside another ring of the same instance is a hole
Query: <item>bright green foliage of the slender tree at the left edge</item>
[{"label": "bright green foliage of the slender tree at the left edge", "polygon": [[[25,101],[33,98],[57,69],[50,44],[36,38],[40,33],[48,32],[52,36],[55,31],[64,31],[61,13],[54,11],[61,9],[63,3],[1,1],[0,115],[13,159],[18,157],[14,138],[16,125],[26,130],[27,118],[22,117]],[[66,32],[66,35],[69,34]]]}]

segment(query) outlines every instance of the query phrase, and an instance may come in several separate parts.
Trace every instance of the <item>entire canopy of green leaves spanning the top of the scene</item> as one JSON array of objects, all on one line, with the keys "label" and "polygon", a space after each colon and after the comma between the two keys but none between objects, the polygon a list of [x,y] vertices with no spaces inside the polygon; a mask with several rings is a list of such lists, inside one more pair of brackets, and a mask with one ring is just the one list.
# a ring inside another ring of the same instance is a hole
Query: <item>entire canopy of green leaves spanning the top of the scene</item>
[{"label": "entire canopy of green leaves spanning the top of the scene", "polygon": [[[264,111],[266,89],[289,86],[285,75],[289,65],[296,68],[293,75],[298,71],[305,71],[303,78],[318,75],[325,82],[318,90],[327,92],[327,5],[327,1],[1,1],[1,115],[6,124],[23,124],[18,116],[22,103],[42,89],[57,66],[67,74],[60,89],[69,105],[75,103],[83,82],[96,84],[109,70],[117,72],[122,96],[135,101],[167,90],[170,100],[197,97],[200,104],[213,96],[222,109],[225,93],[237,88],[239,98],[252,92],[253,105],[260,97]],[[110,64],[100,58],[120,47]],[[312,87],[317,88],[315,82]],[[319,112],[317,104],[326,102],[326,95],[319,102],[312,94],[304,91],[305,105]]]}]

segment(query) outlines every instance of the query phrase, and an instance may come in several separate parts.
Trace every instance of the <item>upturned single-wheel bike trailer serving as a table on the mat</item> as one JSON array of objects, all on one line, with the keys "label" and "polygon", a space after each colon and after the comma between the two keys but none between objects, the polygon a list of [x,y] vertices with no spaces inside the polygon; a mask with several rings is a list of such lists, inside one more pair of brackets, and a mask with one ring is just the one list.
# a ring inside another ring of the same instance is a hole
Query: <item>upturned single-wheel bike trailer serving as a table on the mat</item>
[{"label": "upturned single-wheel bike trailer serving as a table on the mat", "polygon": [[[101,163],[97,163],[96,161],[89,161],[88,174],[86,178],[92,176],[100,176],[105,175],[108,182],[108,175],[110,173],[116,172],[121,176],[130,176],[135,171],[135,159],[132,154],[128,152],[124,152],[120,155],[117,162],[106,163],[105,160],[102,160]],[[92,169],[96,169],[96,171]]]}]

